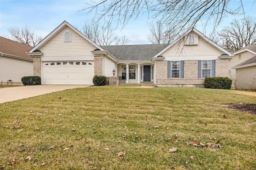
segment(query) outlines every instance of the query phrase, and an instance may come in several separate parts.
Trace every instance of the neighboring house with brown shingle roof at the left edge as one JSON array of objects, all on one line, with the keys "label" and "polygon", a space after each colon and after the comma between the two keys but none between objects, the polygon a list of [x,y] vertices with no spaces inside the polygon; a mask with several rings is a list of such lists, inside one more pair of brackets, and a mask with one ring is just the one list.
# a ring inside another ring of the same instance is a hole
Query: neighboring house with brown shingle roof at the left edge
[{"label": "neighboring house with brown shingle roof at the left edge", "polygon": [[[23,85],[21,78],[33,75],[32,47],[0,37],[0,84]],[[8,81],[11,80],[11,81]]]}]

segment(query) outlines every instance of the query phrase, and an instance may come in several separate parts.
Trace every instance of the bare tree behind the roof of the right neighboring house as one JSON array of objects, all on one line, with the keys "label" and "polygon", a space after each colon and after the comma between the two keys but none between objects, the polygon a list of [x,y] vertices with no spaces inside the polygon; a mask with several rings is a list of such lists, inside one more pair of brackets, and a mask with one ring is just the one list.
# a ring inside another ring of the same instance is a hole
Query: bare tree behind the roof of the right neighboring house
[{"label": "bare tree behind the roof of the right neighboring house", "polygon": [[256,43],[256,18],[250,16],[243,20],[234,20],[229,26],[218,32],[222,40],[219,44],[229,52],[235,52],[246,45]]}]

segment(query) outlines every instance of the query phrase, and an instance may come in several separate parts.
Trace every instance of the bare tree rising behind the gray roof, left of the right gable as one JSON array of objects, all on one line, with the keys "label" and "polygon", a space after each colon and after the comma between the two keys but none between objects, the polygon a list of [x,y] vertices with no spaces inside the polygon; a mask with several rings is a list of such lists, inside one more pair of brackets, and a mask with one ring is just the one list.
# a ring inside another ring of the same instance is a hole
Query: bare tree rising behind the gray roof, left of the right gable
[{"label": "bare tree rising behind the gray roof, left of the right gable", "polygon": [[170,43],[176,37],[176,34],[172,32],[172,27],[170,25],[165,26],[160,21],[157,21],[156,25],[150,24],[149,30],[148,40],[152,44]]}]

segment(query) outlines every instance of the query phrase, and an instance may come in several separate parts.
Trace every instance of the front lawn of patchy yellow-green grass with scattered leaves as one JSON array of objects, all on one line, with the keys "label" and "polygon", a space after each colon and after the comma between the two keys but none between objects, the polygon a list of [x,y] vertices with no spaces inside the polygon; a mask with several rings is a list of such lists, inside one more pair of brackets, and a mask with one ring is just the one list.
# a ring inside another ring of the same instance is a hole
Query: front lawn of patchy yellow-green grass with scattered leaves
[{"label": "front lawn of patchy yellow-green grass with scattered leaves", "polygon": [[[227,109],[229,103],[256,103],[256,97],[232,90],[104,86],[3,103],[0,167],[255,169],[256,125],[246,124],[256,116]],[[194,140],[220,140],[222,148],[186,145]]]}]

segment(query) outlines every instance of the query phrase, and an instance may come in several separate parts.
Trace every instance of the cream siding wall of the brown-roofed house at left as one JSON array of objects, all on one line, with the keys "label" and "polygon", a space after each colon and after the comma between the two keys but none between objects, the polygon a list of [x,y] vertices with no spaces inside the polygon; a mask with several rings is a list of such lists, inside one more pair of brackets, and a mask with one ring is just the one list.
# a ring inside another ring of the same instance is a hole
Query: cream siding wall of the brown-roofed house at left
[{"label": "cream siding wall of the brown-roofed house at left", "polygon": [[7,83],[8,80],[12,80],[13,83],[20,83],[22,77],[32,75],[33,61],[0,57],[0,82]]}]

